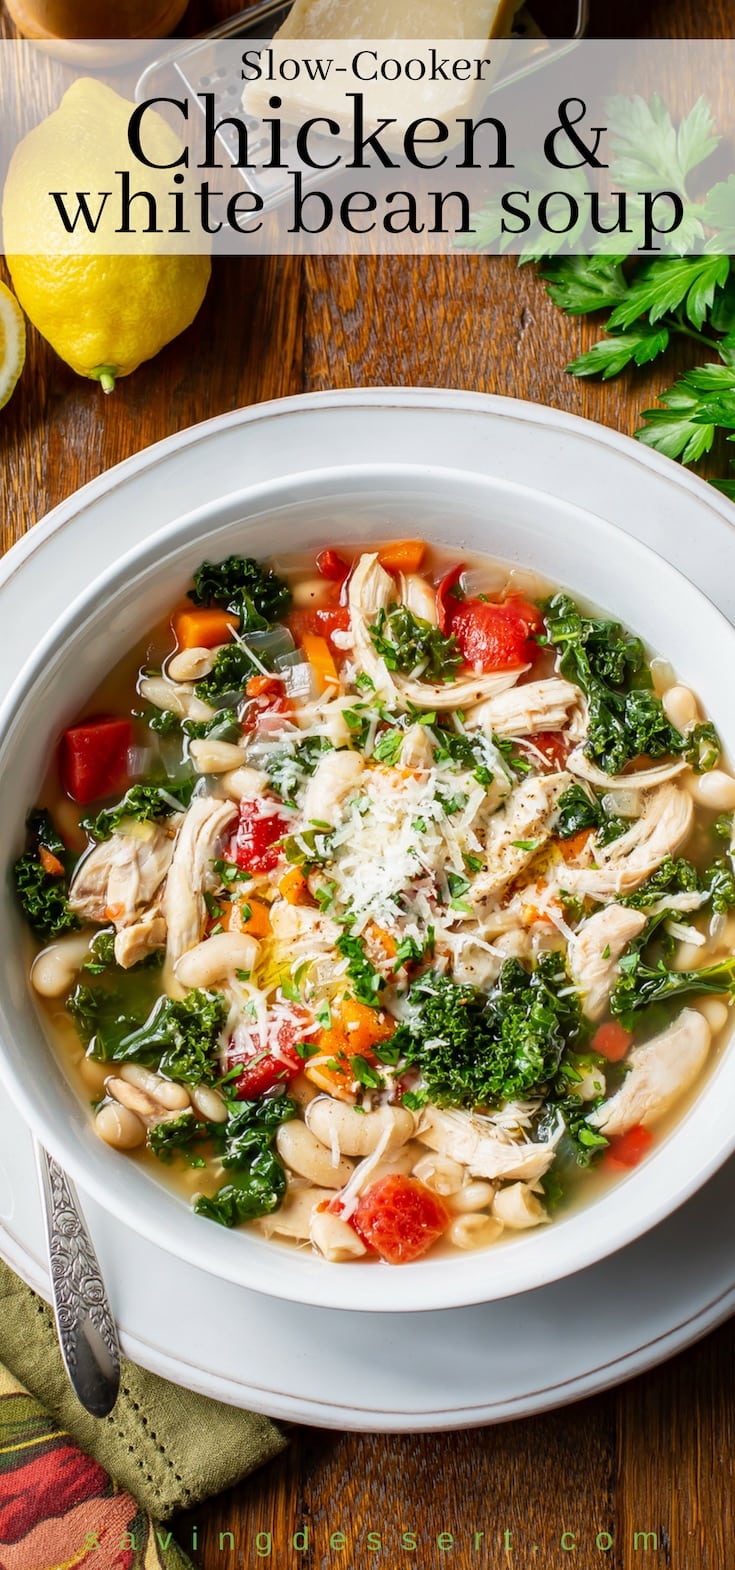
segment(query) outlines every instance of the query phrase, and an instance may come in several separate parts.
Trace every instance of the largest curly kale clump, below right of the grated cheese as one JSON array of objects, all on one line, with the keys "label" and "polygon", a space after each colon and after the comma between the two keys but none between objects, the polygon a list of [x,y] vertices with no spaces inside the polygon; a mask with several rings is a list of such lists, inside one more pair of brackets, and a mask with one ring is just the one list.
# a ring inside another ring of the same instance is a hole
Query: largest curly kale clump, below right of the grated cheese
[{"label": "largest curly kale clump, below right of the grated cheese", "polygon": [[561,995],[561,981],[559,955],[543,955],[532,972],[506,961],[488,994],[427,972],[410,988],[391,1046],[421,1069],[424,1099],[440,1107],[498,1107],[539,1093],[583,1028],[580,1002]]}]

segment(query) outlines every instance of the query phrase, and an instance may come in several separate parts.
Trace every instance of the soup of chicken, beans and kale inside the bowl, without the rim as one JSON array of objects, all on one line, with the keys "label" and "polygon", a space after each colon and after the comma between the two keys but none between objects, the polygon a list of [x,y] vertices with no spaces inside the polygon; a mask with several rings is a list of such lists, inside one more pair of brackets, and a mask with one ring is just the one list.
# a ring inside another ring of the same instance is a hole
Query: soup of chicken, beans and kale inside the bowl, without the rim
[{"label": "soup of chicken, beans and kale inside the bowl, without the rim", "polygon": [[325,1259],[495,1245],[645,1159],[722,1039],[735,780],[565,590],[421,540],[204,562],[16,865],[102,1140]]}]

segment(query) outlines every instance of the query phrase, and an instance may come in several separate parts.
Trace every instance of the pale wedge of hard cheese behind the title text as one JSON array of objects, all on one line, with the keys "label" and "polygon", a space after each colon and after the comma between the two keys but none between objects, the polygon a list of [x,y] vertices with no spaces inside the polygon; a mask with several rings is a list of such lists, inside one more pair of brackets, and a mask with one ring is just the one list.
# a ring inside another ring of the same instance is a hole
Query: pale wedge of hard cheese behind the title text
[{"label": "pale wedge of hard cheese behind the title text", "polygon": [[[309,116],[336,119],[349,135],[353,99],[361,93],[364,124],[394,119],[397,144],[405,126],[422,116],[452,121],[485,97],[518,0],[295,0],[273,42],[261,53],[242,104],[298,124]],[[507,47],[507,46],[506,46]],[[454,140],[454,138],[452,138]]]}]

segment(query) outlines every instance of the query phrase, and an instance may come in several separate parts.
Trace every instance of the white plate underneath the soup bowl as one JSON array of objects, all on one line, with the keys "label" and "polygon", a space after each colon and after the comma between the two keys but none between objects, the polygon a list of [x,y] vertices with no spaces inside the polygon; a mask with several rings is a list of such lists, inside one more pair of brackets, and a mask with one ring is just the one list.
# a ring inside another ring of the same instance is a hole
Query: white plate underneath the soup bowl
[{"label": "white plate underneath the soup bowl", "polygon": [[[49,620],[122,550],[214,495],[278,477],[284,454],[289,473],[305,474],[335,462],[430,466],[438,452],[444,465],[476,474],[512,477],[521,466],[528,485],[605,510],[735,620],[732,507],[667,460],[597,425],[506,399],[335,392],[195,427],[57,509],[0,571],[0,683],[9,683]],[[30,1138],[5,1105],[0,1149],[0,1250],[47,1291]],[[214,1283],[91,1199],[85,1209],[126,1350],[144,1366],[281,1418],[426,1430],[501,1421],[591,1394],[719,1324],[735,1308],[733,1187],[730,1163],[647,1239],[572,1281],[474,1309],[377,1319]],[[325,1341],[328,1399],[320,1360],[309,1356]]]}]

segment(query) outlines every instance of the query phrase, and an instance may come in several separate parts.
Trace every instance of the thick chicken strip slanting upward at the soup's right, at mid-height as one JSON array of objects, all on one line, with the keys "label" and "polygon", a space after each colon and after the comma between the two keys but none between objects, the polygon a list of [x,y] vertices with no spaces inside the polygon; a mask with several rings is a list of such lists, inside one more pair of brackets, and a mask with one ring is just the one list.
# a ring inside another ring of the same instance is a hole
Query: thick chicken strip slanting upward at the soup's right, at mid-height
[{"label": "thick chicken strip slanting upward at the soup's right, at mid-height", "polygon": [[647,793],[639,818],[609,845],[595,846],[597,867],[567,867],[562,884],[570,893],[611,900],[631,893],[655,873],[666,856],[674,856],[686,838],[694,818],[694,802],[677,785],[661,785]]}]

